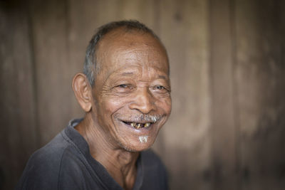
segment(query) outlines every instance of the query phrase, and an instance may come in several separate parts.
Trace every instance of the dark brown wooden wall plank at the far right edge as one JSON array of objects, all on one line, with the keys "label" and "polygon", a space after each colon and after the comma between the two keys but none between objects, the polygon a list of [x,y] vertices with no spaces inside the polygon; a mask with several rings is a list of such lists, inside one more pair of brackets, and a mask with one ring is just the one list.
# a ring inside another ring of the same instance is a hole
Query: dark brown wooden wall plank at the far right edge
[{"label": "dark brown wooden wall plank at the far right edge", "polygon": [[236,1],[242,189],[284,189],[282,1]]}]

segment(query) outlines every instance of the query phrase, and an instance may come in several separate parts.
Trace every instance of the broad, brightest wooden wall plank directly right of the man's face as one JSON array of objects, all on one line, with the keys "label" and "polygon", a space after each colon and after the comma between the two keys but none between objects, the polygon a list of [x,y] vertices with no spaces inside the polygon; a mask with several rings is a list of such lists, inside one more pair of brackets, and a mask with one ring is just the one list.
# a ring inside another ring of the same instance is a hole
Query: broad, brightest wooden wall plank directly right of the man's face
[{"label": "broad, brightest wooden wall plank directly right of the man's face", "polygon": [[162,129],[171,189],[211,189],[208,1],[160,1],[172,115]]}]

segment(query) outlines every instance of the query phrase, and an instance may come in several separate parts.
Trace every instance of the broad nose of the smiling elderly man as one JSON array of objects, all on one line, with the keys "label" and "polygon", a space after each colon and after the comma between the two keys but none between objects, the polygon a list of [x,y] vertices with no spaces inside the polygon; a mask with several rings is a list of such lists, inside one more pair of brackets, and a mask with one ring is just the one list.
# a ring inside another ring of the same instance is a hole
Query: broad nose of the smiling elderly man
[{"label": "broad nose of the smiling elderly man", "polygon": [[155,97],[148,88],[138,88],[134,100],[130,103],[130,109],[138,110],[143,114],[155,110]]}]

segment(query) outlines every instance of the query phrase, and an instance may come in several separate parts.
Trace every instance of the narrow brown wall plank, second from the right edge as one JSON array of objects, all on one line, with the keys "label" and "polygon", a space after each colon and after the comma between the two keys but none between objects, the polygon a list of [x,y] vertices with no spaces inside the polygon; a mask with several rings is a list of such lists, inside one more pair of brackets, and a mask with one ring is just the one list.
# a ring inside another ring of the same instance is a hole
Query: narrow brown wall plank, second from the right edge
[{"label": "narrow brown wall plank, second from the right edge", "polygon": [[210,1],[214,189],[239,189],[230,1]]}]

